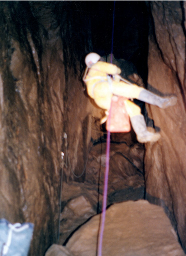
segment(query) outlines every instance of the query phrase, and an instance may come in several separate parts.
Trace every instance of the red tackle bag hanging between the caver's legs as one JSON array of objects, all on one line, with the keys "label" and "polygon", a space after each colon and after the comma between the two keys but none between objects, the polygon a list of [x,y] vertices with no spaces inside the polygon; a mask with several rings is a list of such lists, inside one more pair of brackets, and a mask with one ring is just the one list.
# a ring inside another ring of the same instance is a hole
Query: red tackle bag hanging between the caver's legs
[{"label": "red tackle bag hanging between the caver's legs", "polygon": [[[131,130],[130,119],[125,107],[127,98],[112,96],[112,104],[106,122],[106,129],[113,133],[129,132]],[[109,125],[110,122],[110,125]]]}]

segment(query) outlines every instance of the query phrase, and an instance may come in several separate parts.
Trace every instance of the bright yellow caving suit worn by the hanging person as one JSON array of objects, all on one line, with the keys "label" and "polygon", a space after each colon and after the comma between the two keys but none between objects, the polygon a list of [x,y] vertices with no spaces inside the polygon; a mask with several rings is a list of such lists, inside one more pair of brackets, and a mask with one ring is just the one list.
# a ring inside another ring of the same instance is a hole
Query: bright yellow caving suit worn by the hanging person
[{"label": "bright yellow caving suit worn by the hanging person", "polygon": [[[117,75],[121,73],[119,67],[112,63],[98,61],[89,68],[83,79],[87,86],[88,95],[94,99],[97,106],[104,110],[110,109],[111,98],[113,95],[125,98],[138,98],[142,87],[135,84],[128,84],[120,81]],[[111,78],[109,75],[112,75]],[[115,79],[114,79],[115,76]],[[130,100],[126,100],[125,106],[130,118],[141,114],[141,109]]]}]

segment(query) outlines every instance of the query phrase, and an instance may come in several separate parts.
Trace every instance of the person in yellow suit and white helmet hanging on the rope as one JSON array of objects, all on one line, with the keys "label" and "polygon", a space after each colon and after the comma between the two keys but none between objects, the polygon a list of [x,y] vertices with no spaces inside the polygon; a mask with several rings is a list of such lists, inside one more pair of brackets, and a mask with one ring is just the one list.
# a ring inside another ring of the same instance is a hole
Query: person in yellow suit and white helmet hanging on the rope
[{"label": "person in yellow suit and white helmet hanging on the rope", "polygon": [[122,96],[126,98],[124,105],[138,141],[146,143],[159,140],[160,134],[147,130],[140,107],[131,100],[136,98],[164,109],[174,106],[177,102],[177,97],[160,97],[143,87],[132,84],[120,76],[121,70],[119,67],[112,63],[100,61],[100,59],[101,56],[94,52],[85,57],[87,68],[83,81],[86,83],[88,95],[93,98],[97,106],[105,110],[106,116],[102,118],[101,123],[104,123],[108,117],[112,96]]}]

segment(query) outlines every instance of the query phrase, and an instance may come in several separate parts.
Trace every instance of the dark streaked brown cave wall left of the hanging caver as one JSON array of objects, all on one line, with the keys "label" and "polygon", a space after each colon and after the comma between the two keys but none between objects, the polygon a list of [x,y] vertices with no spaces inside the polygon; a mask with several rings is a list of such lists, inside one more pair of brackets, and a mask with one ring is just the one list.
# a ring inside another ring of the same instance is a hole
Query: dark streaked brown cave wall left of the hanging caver
[{"label": "dark streaked brown cave wall left of the hanging caver", "polygon": [[[0,218],[35,224],[30,255],[57,241],[64,132],[73,170],[90,140],[81,81],[89,23],[65,2],[0,5]],[[69,169],[64,178],[74,179]]]}]

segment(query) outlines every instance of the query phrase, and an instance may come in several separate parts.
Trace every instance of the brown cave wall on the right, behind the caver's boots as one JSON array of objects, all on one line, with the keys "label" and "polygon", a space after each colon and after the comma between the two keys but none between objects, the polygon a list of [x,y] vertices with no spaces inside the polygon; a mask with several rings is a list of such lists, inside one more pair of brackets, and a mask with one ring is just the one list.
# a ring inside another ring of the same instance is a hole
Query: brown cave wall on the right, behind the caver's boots
[{"label": "brown cave wall on the right, behind the caver's boots", "polygon": [[186,251],[186,27],[184,1],[149,2],[148,89],[177,95],[165,110],[147,105],[148,125],[161,133],[146,144],[147,200],[162,205]]}]

